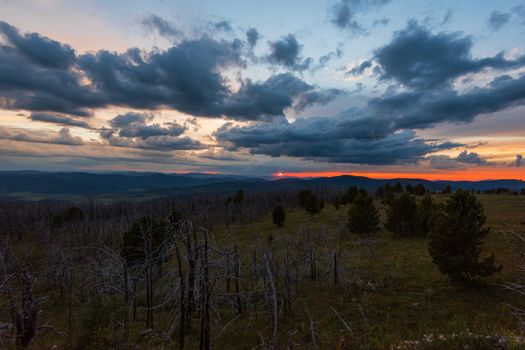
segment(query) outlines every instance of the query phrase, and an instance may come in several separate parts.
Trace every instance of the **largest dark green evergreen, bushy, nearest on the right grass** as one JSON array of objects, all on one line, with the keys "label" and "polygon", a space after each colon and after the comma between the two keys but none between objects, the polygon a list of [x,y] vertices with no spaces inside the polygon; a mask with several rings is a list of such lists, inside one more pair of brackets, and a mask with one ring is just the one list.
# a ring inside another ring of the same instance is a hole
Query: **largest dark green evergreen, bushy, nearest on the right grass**
[{"label": "largest dark green evergreen, bushy, nearest on the right grass", "polygon": [[481,203],[458,190],[440,213],[428,250],[439,270],[453,282],[486,277],[501,271],[501,266],[494,266],[494,254],[479,261],[483,238],[489,232]]}]

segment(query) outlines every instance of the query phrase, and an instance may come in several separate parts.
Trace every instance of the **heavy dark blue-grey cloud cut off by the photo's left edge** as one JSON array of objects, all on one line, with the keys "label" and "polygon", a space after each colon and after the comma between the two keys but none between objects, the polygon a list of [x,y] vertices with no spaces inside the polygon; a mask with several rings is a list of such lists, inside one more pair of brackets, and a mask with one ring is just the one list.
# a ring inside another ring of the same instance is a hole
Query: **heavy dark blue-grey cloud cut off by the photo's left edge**
[{"label": "heavy dark blue-grey cloud cut off by the photo's left edge", "polygon": [[74,51],[38,34],[20,35],[0,22],[0,108],[86,116],[102,98],[73,70]]}]

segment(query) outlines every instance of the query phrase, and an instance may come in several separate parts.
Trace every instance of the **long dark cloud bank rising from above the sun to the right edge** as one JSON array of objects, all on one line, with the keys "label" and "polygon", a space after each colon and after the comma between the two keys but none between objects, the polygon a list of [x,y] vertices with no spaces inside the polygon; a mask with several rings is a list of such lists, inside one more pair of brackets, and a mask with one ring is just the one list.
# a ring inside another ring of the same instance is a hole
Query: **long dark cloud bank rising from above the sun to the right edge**
[{"label": "long dark cloud bank rising from above the sun to the right edge", "polygon": [[[388,156],[392,163],[411,162],[460,144],[417,138],[410,129],[429,128],[442,122],[469,122],[481,113],[524,102],[525,75],[516,79],[501,77],[487,88],[465,94],[452,90],[386,93],[371,99],[363,108],[335,117],[298,118],[292,123],[283,118],[248,127],[226,125],[215,136],[230,149],[246,148],[254,154],[367,164],[387,163]],[[399,154],[393,156],[381,147],[395,149]],[[464,153],[455,161],[474,163],[479,159],[475,153]]]}]

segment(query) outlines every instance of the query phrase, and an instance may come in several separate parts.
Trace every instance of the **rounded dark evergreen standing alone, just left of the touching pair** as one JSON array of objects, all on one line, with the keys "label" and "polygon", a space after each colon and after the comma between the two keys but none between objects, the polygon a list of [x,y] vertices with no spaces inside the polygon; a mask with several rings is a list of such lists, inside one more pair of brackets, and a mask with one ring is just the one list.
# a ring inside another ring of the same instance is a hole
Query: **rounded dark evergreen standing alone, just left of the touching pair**
[{"label": "rounded dark evergreen standing alone, just left of the touching pair", "polygon": [[374,199],[366,192],[355,197],[348,210],[348,228],[350,232],[368,235],[379,230],[379,212]]}]

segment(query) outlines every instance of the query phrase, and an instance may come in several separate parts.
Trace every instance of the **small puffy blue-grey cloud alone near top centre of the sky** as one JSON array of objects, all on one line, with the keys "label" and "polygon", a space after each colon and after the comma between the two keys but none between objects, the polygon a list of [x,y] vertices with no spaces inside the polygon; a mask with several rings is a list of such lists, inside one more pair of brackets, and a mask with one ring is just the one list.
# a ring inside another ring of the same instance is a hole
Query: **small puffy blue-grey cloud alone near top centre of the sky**
[{"label": "small puffy blue-grey cloud alone near top centre of the sky", "polygon": [[301,56],[302,45],[293,34],[288,34],[276,41],[270,41],[270,54],[267,59],[273,64],[290,70],[303,71],[310,67],[312,59]]}]

